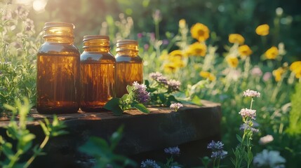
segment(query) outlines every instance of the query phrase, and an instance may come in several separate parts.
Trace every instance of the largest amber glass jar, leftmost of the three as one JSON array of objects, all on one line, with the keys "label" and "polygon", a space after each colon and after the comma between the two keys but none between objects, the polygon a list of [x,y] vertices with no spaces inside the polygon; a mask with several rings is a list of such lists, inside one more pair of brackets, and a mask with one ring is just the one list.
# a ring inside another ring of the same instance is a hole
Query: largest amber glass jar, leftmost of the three
[{"label": "largest amber glass jar, leftmost of the three", "polygon": [[45,43],[37,53],[36,110],[76,113],[79,110],[79,50],[73,45],[74,25],[46,22]]}]

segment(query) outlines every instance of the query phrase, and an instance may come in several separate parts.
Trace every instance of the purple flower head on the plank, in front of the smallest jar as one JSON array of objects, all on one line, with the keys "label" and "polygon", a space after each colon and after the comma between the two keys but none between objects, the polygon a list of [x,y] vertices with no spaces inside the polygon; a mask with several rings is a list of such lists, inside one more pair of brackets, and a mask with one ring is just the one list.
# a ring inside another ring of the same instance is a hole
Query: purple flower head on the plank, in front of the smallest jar
[{"label": "purple flower head on the plank, in front of the smallest jar", "polygon": [[147,103],[149,102],[150,96],[149,92],[146,91],[147,86],[143,84],[139,84],[138,82],[133,83],[134,86],[134,99],[139,103]]}]

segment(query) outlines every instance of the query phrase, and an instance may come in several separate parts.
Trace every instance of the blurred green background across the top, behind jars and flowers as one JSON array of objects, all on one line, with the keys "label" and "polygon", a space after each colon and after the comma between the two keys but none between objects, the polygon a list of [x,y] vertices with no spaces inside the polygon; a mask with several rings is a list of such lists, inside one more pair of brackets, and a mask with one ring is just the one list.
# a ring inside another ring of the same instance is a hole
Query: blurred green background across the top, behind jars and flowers
[{"label": "blurred green background across the top, behind jars and flowers", "polygon": [[[1,0],[7,2],[5,0]],[[76,26],[75,44],[87,34],[108,34],[114,43],[119,38],[137,39],[137,34],[154,32],[154,18],[159,19],[160,38],[168,38],[178,32],[178,21],[185,19],[191,27],[196,22],[217,32],[215,45],[225,45],[229,34],[237,33],[246,38],[246,44],[261,41],[255,34],[258,25],[268,24],[270,34],[265,48],[286,44],[288,57],[283,61],[301,59],[301,1],[298,0],[11,0],[25,4],[30,9],[36,31],[44,22],[72,22]],[[159,17],[159,18],[158,18]],[[119,25],[116,27],[116,25]],[[129,31],[130,30],[130,31]],[[167,37],[166,37],[167,35]],[[212,42],[212,41],[211,41]],[[143,44],[140,44],[143,45]],[[175,48],[171,48],[175,49]],[[223,48],[219,48],[223,52]],[[260,46],[253,52],[262,53]],[[258,57],[253,57],[259,61]]]}]

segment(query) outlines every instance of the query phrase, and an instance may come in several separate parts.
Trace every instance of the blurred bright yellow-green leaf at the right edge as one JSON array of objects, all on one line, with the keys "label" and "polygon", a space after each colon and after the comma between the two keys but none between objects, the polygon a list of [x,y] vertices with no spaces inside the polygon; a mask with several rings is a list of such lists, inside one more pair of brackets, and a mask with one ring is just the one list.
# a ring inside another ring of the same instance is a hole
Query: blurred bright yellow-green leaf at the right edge
[{"label": "blurred bright yellow-green leaf at the right edge", "polygon": [[301,83],[295,85],[295,92],[290,97],[291,110],[290,110],[290,125],[286,130],[290,135],[301,134]]}]

